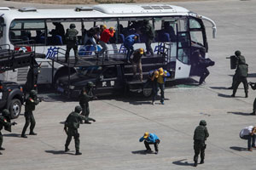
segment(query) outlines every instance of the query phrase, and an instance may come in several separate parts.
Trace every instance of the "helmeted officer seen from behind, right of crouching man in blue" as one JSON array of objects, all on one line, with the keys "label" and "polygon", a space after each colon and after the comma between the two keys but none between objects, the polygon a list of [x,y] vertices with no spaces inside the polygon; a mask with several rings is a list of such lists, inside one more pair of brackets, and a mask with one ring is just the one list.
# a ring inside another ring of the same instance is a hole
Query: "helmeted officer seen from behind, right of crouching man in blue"
[{"label": "helmeted officer seen from behind, right of crouching man in blue", "polygon": [[201,164],[204,163],[205,160],[205,150],[207,148],[207,144],[205,144],[205,141],[209,137],[209,133],[207,131],[207,122],[205,120],[201,120],[199,123],[199,126],[195,128],[194,132],[194,150],[195,150],[195,156],[194,166],[197,166],[198,156],[201,154]]}]

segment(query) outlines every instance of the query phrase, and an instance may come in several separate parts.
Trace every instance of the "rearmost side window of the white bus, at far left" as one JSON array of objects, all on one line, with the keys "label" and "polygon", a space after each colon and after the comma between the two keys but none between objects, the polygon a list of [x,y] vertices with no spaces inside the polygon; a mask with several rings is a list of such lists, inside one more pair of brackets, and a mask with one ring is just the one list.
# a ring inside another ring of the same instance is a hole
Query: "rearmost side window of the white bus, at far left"
[{"label": "rearmost side window of the white bus, at far left", "polygon": [[13,20],[9,29],[9,39],[12,43],[44,43],[39,41],[45,31],[44,20]]}]

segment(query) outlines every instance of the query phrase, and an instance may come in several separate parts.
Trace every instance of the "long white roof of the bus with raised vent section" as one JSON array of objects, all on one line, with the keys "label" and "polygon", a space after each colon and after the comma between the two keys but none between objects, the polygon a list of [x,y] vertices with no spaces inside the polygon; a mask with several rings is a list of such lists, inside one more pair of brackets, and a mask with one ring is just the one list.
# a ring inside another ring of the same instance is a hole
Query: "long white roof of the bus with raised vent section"
[{"label": "long white roof of the bus with raised vent section", "polygon": [[[78,10],[77,10],[78,9]],[[14,19],[108,18],[188,15],[189,10],[169,4],[99,4],[80,8],[7,8],[0,7],[0,16]],[[136,14],[136,15],[135,15]],[[4,16],[5,15],[5,16]]]}]

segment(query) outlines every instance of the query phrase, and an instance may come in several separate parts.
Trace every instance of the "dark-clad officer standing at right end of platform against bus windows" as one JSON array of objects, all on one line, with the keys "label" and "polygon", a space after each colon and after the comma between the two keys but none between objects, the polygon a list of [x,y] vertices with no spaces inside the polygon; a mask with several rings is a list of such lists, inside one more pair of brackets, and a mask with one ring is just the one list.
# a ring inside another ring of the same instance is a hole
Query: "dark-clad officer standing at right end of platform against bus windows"
[{"label": "dark-clad officer standing at right end of platform against bus windows", "polygon": [[155,36],[154,27],[149,23],[149,20],[143,20],[143,26],[141,27],[140,30],[143,32],[143,35],[146,37],[146,42],[145,42],[146,49],[147,49],[146,54],[150,53],[151,55],[154,55],[153,49],[151,47],[151,43],[153,42],[154,36]]}]

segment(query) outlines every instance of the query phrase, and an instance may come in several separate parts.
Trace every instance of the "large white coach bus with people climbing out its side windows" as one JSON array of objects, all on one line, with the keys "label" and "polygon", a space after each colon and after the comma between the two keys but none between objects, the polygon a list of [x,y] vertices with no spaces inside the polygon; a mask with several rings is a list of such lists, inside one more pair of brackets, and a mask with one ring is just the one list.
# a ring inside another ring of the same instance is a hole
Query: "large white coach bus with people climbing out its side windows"
[{"label": "large white coach bus with people climbing out its side windows", "polygon": [[[159,52],[157,48],[159,48],[160,42],[164,42],[164,45],[169,47],[167,59],[175,72],[174,78],[193,76],[190,61],[192,52],[195,49],[200,49],[203,56],[207,58],[207,33],[203,21],[211,24],[213,37],[216,34],[216,25],[214,21],[205,16],[169,4],[99,4],[92,7],[69,9],[0,7],[0,44],[10,44],[12,49],[16,49],[15,44],[19,44],[30,50],[33,43],[36,45],[36,53],[53,58],[55,57],[55,48],[66,49],[65,37],[51,34],[52,29],[55,28],[53,23],[60,22],[65,31],[70,24],[75,24],[79,31],[79,49],[81,50],[84,48],[83,30],[89,30],[93,26],[106,25],[116,29],[114,38],[108,43],[108,48],[115,51],[113,53],[119,53],[122,51],[120,48],[122,48],[124,37],[134,33],[137,33],[141,39],[134,47],[145,48],[143,35],[134,26],[142,20],[149,20],[154,26],[156,36],[151,44],[154,53]],[[165,30],[166,23],[172,31]],[[51,60],[38,59],[38,61],[43,62],[38,83],[51,83]],[[55,71],[57,69],[55,68]],[[6,71],[0,74],[0,78],[13,82],[25,82],[27,70],[28,68],[20,68],[16,71]]]}]

